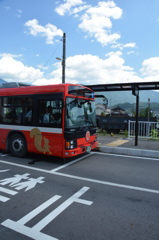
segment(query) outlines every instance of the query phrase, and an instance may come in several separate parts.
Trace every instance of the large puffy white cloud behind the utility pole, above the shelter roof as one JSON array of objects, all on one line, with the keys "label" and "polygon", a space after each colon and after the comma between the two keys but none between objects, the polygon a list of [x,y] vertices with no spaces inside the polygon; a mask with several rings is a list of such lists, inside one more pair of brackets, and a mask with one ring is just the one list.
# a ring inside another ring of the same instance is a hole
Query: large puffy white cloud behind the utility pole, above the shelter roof
[{"label": "large puffy white cloud behind the utility pole, above the shelter roof", "polygon": [[[79,84],[107,84],[141,81],[133,68],[124,65],[121,53],[111,53],[106,59],[91,54],[68,57],[66,62],[66,82]],[[55,79],[61,82],[60,63],[52,72]]]}]

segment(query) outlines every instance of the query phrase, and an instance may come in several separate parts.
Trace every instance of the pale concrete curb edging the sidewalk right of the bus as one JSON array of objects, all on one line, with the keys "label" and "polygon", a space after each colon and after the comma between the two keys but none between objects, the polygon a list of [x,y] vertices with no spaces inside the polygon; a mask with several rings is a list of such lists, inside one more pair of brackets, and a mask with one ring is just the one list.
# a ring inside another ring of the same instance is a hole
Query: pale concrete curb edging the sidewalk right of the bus
[{"label": "pale concrete curb edging the sidewalk right of the bus", "polygon": [[159,158],[159,151],[154,151],[154,150],[109,147],[109,146],[101,146],[101,147],[98,147],[97,150],[105,153],[123,154],[123,155],[138,156],[138,157]]}]

